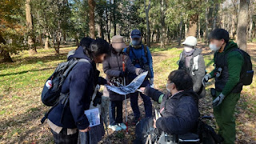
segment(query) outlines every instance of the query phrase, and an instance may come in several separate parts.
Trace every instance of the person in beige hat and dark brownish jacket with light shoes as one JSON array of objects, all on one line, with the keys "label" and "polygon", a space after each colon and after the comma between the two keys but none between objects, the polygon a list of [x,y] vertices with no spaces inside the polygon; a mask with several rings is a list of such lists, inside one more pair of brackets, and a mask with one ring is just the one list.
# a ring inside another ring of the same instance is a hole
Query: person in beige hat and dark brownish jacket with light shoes
[{"label": "person in beige hat and dark brownish jacket with light shoes", "polygon": [[[122,50],[126,47],[126,44],[121,35],[115,35],[111,39],[111,46],[111,54],[108,58],[106,58],[106,61],[103,62],[103,70],[106,74],[106,79],[113,83],[114,86],[123,85],[128,73],[138,75],[144,72],[144,70],[134,67],[129,56],[122,52]],[[126,125],[122,121],[122,101],[125,99],[124,95],[114,93],[107,90],[105,87],[103,90],[103,96],[109,96],[110,98],[109,128],[114,131],[126,130]],[[117,114],[115,113],[116,109]]]}]

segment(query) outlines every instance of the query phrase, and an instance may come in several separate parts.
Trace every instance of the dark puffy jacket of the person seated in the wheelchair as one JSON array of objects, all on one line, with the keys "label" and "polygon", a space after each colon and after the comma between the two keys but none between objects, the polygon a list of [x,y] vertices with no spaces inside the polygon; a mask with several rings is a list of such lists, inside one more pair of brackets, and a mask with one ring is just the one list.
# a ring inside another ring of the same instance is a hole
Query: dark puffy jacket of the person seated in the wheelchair
[{"label": "dark puffy jacket of the person seated in the wheelchair", "polygon": [[[146,95],[158,102],[162,92],[146,86]],[[198,96],[193,90],[185,90],[170,96],[165,94],[160,105],[162,118],[158,118],[156,126],[168,134],[186,134],[197,128]]]}]

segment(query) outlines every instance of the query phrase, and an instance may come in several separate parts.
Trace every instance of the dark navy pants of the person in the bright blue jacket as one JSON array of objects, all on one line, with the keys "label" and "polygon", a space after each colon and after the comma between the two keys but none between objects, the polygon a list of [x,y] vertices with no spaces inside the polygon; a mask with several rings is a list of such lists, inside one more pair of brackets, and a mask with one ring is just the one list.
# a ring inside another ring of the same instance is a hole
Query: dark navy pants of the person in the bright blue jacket
[{"label": "dark navy pants of the person in the bright blue jacket", "polygon": [[[142,83],[142,87],[150,85],[150,82],[148,80],[145,80]],[[143,99],[144,102],[144,108],[146,113],[146,118],[152,117],[152,102],[150,100],[150,97],[140,93],[140,96]],[[138,109],[138,92],[135,92],[133,94],[130,94],[130,106],[134,111],[134,117],[139,118],[140,117],[140,111]]]}]

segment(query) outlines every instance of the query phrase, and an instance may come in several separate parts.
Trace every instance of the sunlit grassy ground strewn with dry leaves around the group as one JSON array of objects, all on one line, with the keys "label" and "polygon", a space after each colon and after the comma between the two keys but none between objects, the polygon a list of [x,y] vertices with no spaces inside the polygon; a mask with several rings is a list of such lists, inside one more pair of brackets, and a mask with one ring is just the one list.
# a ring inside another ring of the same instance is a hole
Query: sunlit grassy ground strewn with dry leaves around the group
[{"label": "sunlit grassy ground strewn with dry leaves around the group", "polygon": [[[256,44],[250,43],[250,54],[256,66]],[[179,53],[182,49],[167,46],[166,49],[152,48],[154,59],[155,87],[165,91],[166,78],[171,70],[178,68]],[[206,61],[206,70],[213,69],[212,53],[200,43]],[[54,143],[50,130],[46,124],[41,125],[40,120],[49,108],[43,106],[40,94],[46,78],[54,71],[59,62],[66,60],[66,54],[75,47],[61,48],[59,56],[54,50],[39,49],[34,56],[22,52],[14,56],[14,63],[0,64],[0,143]],[[102,66],[98,66],[102,70]],[[105,74],[102,74],[104,76]],[[209,88],[207,96],[200,102],[202,114],[212,114]],[[256,143],[256,99],[255,99],[255,76],[250,86],[244,86],[241,99],[235,112],[237,117],[237,143]],[[143,102],[139,99],[139,108],[142,116]],[[154,107],[158,104],[154,103]],[[132,110],[128,103],[129,120],[132,118]],[[214,126],[215,122],[210,122]],[[113,132],[109,130],[102,143],[132,143],[134,139],[134,126],[129,126],[129,134]]]}]

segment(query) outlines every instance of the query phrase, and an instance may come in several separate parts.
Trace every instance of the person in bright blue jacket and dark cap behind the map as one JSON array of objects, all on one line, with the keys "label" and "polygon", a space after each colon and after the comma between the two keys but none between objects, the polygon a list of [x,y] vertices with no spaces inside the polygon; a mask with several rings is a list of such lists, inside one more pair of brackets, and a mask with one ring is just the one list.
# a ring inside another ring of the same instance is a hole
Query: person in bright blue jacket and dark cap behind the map
[{"label": "person in bright blue jacket and dark cap behind the map", "polygon": [[[150,54],[150,49],[142,44],[142,33],[140,30],[132,30],[130,33],[130,46],[127,47],[124,52],[129,55],[131,62],[135,67],[142,68],[142,70],[148,71],[148,77],[145,78],[145,81],[142,83],[142,86],[154,87],[154,71],[153,71],[153,61]],[[131,82],[136,78],[135,74],[129,74],[129,81]],[[140,119],[140,111],[138,109],[138,94],[135,92],[130,94],[130,106],[134,111],[134,120],[133,124],[135,125]],[[144,94],[140,93],[140,96],[143,99],[146,117],[152,117],[152,102],[150,98],[146,97]]]}]

